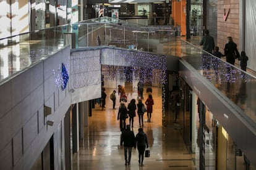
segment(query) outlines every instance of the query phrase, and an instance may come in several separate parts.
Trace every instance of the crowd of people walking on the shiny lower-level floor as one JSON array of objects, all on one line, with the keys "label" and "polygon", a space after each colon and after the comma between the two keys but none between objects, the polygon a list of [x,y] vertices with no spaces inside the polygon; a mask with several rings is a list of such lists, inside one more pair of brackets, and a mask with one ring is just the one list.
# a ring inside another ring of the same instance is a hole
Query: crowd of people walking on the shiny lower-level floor
[{"label": "crowd of people walking on the shiny lower-level floor", "polygon": [[[139,166],[143,166],[144,153],[146,148],[148,148],[148,138],[147,134],[143,132],[143,115],[147,112],[148,122],[151,121],[151,114],[153,111],[154,100],[152,97],[152,88],[151,85],[147,87],[148,98],[145,100],[145,104],[142,102],[143,100],[143,82],[139,81],[138,83],[138,103],[136,103],[135,99],[131,99],[126,107],[127,95],[124,89],[124,86],[118,85],[118,95],[120,96],[120,106],[117,114],[117,120],[120,123],[120,131],[121,134],[121,145],[124,146],[124,159],[125,165],[130,165],[130,160],[132,156],[132,148],[139,151]],[[105,88],[102,89],[101,95],[102,98],[106,99]],[[114,90],[110,94],[110,99],[113,102],[113,109],[116,109],[116,91]],[[103,101],[102,110],[105,108],[106,101]],[[134,117],[139,116],[139,124],[140,128],[138,129],[138,133],[136,136],[134,135],[134,131],[131,130],[131,127],[134,127]],[[126,119],[129,118],[129,124],[126,124]]]}]

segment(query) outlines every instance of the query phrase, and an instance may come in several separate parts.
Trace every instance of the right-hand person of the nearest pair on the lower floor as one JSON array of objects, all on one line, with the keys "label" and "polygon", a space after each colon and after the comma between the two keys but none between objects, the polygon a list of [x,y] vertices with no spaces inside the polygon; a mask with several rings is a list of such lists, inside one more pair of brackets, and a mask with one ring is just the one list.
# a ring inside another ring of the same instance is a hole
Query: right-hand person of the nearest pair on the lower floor
[{"label": "right-hand person of the nearest pair on the lower floor", "polygon": [[134,148],[136,148],[136,145],[139,151],[139,165],[143,166],[144,152],[146,147],[148,148],[148,137],[147,134],[143,132],[143,128],[139,128],[139,132],[135,137]]}]

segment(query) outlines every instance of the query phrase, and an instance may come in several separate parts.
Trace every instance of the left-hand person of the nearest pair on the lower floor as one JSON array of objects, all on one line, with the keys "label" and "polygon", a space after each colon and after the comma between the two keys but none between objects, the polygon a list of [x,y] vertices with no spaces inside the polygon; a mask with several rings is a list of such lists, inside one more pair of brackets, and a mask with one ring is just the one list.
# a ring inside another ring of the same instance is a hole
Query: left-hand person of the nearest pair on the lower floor
[{"label": "left-hand person of the nearest pair on the lower floor", "polygon": [[[126,165],[130,165],[130,158],[132,157],[132,147],[135,145],[134,132],[130,131],[130,125],[126,126],[126,130],[122,132],[121,144],[124,143],[124,160]],[[128,158],[127,158],[128,151]]]}]

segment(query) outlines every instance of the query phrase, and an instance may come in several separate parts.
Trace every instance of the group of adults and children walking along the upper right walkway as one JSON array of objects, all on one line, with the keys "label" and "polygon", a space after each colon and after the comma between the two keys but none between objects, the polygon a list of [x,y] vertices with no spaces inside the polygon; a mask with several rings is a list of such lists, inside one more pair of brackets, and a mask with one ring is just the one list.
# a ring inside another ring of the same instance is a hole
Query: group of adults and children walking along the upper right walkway
[{"label": "group of adults and children walking along the upper right walkway", "polygon": [[205,36],[203,36],[199,44],[200,46],[203,46],[204,51],[207,51],[216,57],[221,58],[226,56],[226,62],[230,63],[231,65],[234,65],[236,59],[238,59],[240,61],[241,70],[246,71],[248,57],[245,54],[245,51],[242,51],[241,55],[239,54],[237,44],[233,41],[231,36],[228,36],[227,38],[227,43],[224,47],[224,55],[219,52],[220,48],[215,46],[215,41],[213,37],[210,36],[209,30],[205,30]]}]

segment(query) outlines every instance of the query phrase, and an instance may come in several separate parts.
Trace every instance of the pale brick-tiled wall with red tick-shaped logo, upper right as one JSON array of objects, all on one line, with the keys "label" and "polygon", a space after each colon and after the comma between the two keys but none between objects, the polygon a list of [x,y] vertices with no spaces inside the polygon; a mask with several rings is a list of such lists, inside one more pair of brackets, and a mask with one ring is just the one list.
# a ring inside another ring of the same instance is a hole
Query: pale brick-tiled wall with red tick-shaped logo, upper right
[{"label": "pale brick-tiled wall with red tick-shaped logo, upper right", "polygon": [[[229,10],[226,21],[223,20],[224,9]],[[239,1],[238,0],[219,0],[218,1],[218,41],[217,46],[223,52],[227,37],[231,36],[239,47]]]}]

